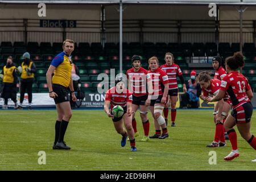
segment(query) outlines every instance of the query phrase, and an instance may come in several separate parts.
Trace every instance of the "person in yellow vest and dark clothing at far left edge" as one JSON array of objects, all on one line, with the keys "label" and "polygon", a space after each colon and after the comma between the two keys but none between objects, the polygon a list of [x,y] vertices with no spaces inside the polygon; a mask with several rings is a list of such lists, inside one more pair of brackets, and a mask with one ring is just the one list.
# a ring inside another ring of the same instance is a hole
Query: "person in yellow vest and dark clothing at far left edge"
[{"label": "person in yellow vest and dark clothing at far left edge", "polygon": [[5,104],[2,109],[8,109],[8,98],[11,98],[14,102],[14,109],[17,109],[17,89],[16,83],[18,81],[17,68],[13,63],[13,57],[9,56],[6,61],[6,65],[2,69],[3,74],[3,86],[1,97],[5,100]]}]

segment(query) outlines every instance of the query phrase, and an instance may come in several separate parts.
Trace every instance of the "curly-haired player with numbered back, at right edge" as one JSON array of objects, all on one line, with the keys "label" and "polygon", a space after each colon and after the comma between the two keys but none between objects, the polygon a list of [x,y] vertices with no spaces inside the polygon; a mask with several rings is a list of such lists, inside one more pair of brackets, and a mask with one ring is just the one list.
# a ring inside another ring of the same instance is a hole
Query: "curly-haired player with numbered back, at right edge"
[{"label": "curly-haired player with numbered back, at right edge", "polygon": [[233,110],[224,123],[225,130],[232,144],[232,151],[224,160],[233,160],[240,155],[237,147],[237,133],[233,129],[235,125],[237,125],[242,138],[256,150],[256,138],[250,133],[250,121],[253,114],[253,105],[250,100],[253,98],[253,92],[247,78],[237,71],[244,64],[245,61],[241,52],[236,52],[233,56],[226,58],[226,71],[228,75],[222,78],[217,96],[207,98],[208,102],[220,101],[227,92],[232,101]]}]

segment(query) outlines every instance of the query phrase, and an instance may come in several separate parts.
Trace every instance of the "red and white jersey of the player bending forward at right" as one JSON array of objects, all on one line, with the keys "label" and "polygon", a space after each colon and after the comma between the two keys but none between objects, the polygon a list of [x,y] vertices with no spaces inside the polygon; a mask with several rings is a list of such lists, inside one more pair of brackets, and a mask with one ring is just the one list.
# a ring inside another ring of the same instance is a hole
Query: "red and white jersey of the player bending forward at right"
[{"label": "red and white jersey of the player bending forward at right", "polygon": [[[218,90],[220,90],[221,81],[218,79],[210,79],[210,86],[207,89],[202,88],[204,97],[217,96]],[[225,94],[224,100],[228,100],[228,94]]]}]

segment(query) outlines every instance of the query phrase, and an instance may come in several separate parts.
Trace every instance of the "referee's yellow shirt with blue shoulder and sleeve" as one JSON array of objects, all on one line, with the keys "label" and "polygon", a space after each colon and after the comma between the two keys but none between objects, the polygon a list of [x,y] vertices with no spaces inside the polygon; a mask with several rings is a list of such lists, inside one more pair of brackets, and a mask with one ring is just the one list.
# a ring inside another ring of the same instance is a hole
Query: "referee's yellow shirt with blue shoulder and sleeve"
[{"label": "referee's yellow shirt with blue shoulder and sleeve", "polygon": [[68,87],[71,80],[72,70],[71,56],[67,55],[65,52],[61,52],[54,57],[51,65],[56,67],[52,77],[52,84],[59,84]]}]

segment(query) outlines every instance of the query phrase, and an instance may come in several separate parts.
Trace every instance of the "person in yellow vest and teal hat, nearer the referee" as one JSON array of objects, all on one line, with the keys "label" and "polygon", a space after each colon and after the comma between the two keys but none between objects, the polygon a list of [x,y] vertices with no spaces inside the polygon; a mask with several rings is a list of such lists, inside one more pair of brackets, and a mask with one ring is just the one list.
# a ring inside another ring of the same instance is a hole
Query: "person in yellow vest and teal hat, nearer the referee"
[{"label": "person in yellow vest and teal hat, nearer the referee", "polygon": [[28,109],[32,109],[32,85],[34,82],[34,73],[36,72],[36,66],[30,59],[30,53],[25,52],[22,56],[22,73],[20,76],[20,101],[18,109],[23,109],[22,102],[24,100],[24,94],[27,90],[28,94]]}]

